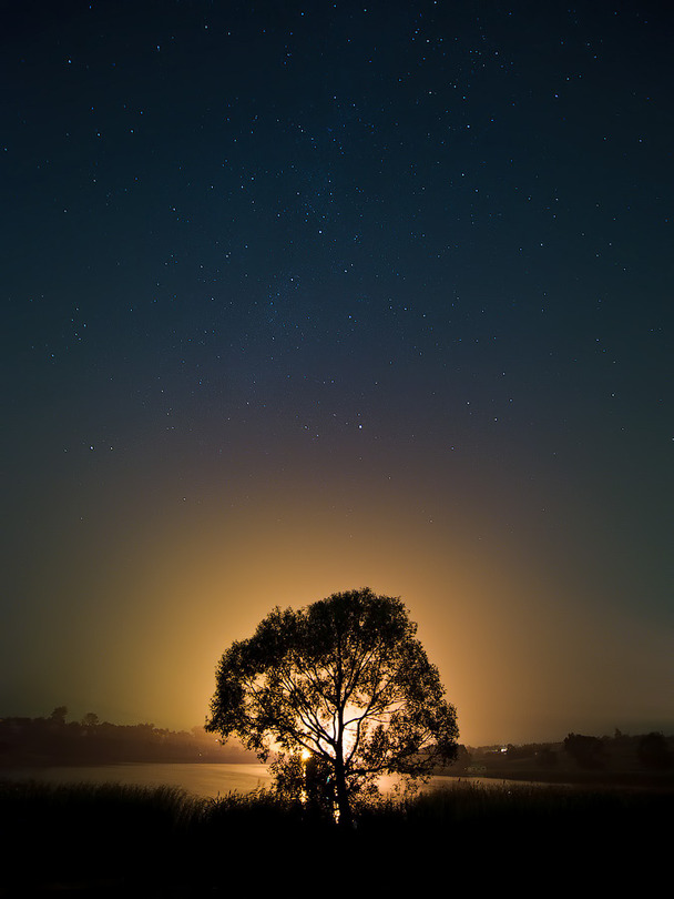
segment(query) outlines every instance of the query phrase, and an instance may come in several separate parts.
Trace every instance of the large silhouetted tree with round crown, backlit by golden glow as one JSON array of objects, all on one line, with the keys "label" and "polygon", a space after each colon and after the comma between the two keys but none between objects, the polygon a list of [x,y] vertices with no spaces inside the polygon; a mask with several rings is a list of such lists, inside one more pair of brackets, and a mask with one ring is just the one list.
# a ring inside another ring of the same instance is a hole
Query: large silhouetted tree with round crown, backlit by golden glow
[{"label": "large silhouetted tree with round crown, backlit by golden glow", "polygon": [[354,797],[380,775],[428,779],[456,757],[456,710],[416,632],[399,598],[369,588],[276,607],[223,655],[206,730],[263,761],[280,751],[277,784],[310,760],[349,825]]}]

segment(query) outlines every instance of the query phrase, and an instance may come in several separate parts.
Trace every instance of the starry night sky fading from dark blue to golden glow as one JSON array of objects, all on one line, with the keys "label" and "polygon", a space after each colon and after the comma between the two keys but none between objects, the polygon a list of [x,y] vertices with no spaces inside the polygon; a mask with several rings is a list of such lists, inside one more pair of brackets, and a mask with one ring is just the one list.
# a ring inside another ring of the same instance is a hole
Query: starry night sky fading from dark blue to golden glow
[{"label": "starry night sky fading from dark blue to golden glow", "polygon": [[673,26],[3,4],[0,715],[370,586],[464,743],[674,730]]}]

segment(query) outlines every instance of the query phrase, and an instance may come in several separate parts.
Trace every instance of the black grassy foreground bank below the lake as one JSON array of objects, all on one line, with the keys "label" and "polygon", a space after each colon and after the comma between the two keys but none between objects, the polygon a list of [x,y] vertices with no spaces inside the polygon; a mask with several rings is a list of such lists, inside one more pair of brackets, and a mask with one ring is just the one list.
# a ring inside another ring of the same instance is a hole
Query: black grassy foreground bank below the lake
[{"label": "black grassy foreground bank below the lake", "polygon": [[0,896],[641,891],[668,887],[674,824],[671,792],[466,781],[347,834],[265,794],[0,784]]}]

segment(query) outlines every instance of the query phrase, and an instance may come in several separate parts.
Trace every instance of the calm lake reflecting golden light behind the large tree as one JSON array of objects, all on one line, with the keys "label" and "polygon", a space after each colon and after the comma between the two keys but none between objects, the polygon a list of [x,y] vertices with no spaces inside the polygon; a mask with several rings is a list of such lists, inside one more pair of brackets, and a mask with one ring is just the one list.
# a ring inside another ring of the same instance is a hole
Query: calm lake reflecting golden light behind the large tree
[{"label": "calm lake reflecting golden light behind the large tree", "polygon": [[[134,787],[181,787],[196,796],[216,798],[228,792],[252,792],[258,787],[268,787],[272,775],[266,765],[193,765],[120,762],[118,765],[92,765],[85,767],[16,768],[0,769],[3,780],[38,780],[49,784],[124,784]],[[506,780],[489,778],[462,778],[470,782],[501,786]],[[426,789],[436,789],[456,782],[456,777],[432,777]],[[395,786],[392,777],[382,778],[380,789],[387,792]]]}]

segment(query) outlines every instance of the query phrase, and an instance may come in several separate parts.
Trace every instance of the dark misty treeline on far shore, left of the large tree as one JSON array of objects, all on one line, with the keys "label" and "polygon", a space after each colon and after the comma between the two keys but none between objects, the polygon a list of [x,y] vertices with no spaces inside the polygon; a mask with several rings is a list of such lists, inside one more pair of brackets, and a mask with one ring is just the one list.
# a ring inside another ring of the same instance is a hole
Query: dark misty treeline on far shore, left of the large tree
[{"label": "dark misty treeline on far shore, left of the large tree", "polygon": [[37,765],[102,765],[116,761],[248,762],[243,747],[222,746],[203,727],[166,730],[153,724],[115,725],[88,713],[68,721],[59,706],[48,718],[0,719],[0,768]]}]

